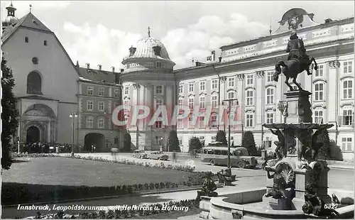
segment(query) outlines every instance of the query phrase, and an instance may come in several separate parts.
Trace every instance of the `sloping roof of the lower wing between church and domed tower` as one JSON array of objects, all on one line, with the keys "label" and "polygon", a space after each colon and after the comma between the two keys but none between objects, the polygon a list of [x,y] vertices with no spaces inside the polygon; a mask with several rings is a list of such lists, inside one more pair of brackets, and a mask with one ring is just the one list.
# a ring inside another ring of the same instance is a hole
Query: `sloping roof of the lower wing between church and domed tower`
[{"label": "sloping roof of the lower wing between church and domed tower", "polygon": [[115,83],[115,72],[77,67],[79,76],[84,81]]}]

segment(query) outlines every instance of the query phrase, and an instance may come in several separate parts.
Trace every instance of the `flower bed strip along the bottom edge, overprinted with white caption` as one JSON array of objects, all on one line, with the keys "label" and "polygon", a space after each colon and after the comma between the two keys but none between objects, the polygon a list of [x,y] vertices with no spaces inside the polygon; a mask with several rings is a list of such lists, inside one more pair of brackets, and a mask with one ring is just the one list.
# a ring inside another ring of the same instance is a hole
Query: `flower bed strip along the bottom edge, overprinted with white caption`
[{"label": "flower bed strip along the bottom edge, overprinted with white caption", "polygon": [[[42,215],[39,211],[36,216],[30,217],[31,219],[133,219],[141,216],[151,216],[154,214],[161,213],[173,213],[176,211],[182,211],[181,209],[190,209],[194,207],[195,199],[181,200],[178,202],[168,202],[168,203],[156,203],[147,205],[147,209],[132,209],[132,210],[107,210],[107,211],[93,211],[93,212],[80,212],[79,214],[65,214],[64,211],[60,211],[56,214],[46,214]],[[164,209],[163,207],[180,207],[179,210]],[[21,217],[16,217],[19,219]]]}]

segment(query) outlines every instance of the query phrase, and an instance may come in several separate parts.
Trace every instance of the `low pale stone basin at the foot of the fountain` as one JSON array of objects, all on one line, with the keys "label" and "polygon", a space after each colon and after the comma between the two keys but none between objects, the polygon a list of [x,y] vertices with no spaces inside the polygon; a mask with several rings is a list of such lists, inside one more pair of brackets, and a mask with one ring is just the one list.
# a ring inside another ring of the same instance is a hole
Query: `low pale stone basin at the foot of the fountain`
[{"label": "low pale stone basin at the foot of the fountain", "polygon": [[[330,193],[337,193],[337,190],[329,190]],[[239,190],[231,194],[224,194],[221,197],[202,197],[200,209],[202,219],[312,219],[316,216],[304,214],[302,209],[276,210],[268,204],[268,200],[263,202],[265,187]],[[344,192],[338,194],[339,199],[343,197],[354,197],[354,192]],[[295,206],[294,206],[295,207]],[[354,204],[336,209],[339,218],[353,218]]]}]

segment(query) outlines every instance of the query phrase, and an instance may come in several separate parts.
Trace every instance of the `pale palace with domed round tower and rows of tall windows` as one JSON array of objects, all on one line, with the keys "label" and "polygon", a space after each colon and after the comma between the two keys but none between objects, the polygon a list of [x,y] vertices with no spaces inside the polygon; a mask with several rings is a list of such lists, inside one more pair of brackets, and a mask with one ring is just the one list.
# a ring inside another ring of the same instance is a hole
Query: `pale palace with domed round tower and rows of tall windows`
[{"label": "pale palace with domed round tower and rows of tall windows", "polygon": [[[189,106],[192,111],[205,111],[212,106],[209,124],[191,126],[192,116],[179,120],[176,126],[180,148],[188,150],[189,140],[197,136],[205,143],[213,143],[218,130],[228,134],[228,127],[217,123],[219,105],[226,99],[238,99],[239,125],[231,128],[231,141],[241,145],[244,131],[252,131],[256,145],[275,148],[277,137],[263,123],[283,122],[278,101],[285,100],[288,87],[280,75],[273,81],[275,64],[287,60],[286,45],[292,31],[305,43],[307,54],[315,57],[319,69],[312,75],[298,76],[303,89],[312,92],[314,123],[333,123],[329,138],[340,146],[346,160],[354,158],[354,18],[339,21],[327,19],[316,23],[312,13],[303,9],[291,9],[280,21],[275,33],[262,38],[224,45],[221,57],[216,53],[206,62],[195,62],[194,67],[173,70],[173,61],[163,43],[152,38],[138,40],[129,48],[121,73],[124,104],[144,104],[157,109],[159,105]],[[170,109],[170,114],[173,108]],[[168,110],[169,111],[169,110]],[[169,112],[168,112],[169,114]],[[138,121],[129,128],[132,142],[138,148],[158,150],[168,141],[168,132],[174,126],[161,122],[148,126],[148,121]],[[228,138],[228,137],[227,137]],[[163,147],[164,148],[164,147]]]}]

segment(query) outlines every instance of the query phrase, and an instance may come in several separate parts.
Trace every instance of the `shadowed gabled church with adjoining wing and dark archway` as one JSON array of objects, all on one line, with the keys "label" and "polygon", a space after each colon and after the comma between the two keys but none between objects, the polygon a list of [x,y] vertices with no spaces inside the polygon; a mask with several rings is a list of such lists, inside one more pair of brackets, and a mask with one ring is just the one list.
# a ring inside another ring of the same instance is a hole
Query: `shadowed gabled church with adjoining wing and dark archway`
[{"label": "shadowed gabled church with adjoining wing and dark archway", "polygon": [[16,18],[11,4],[2,22],[2,50],[13,71],[21,143],[67,143],[98,151],[119,147],[111,111],[121,104],[121,85],[111,72],[79,67],[53,31],[33,13]]}]

